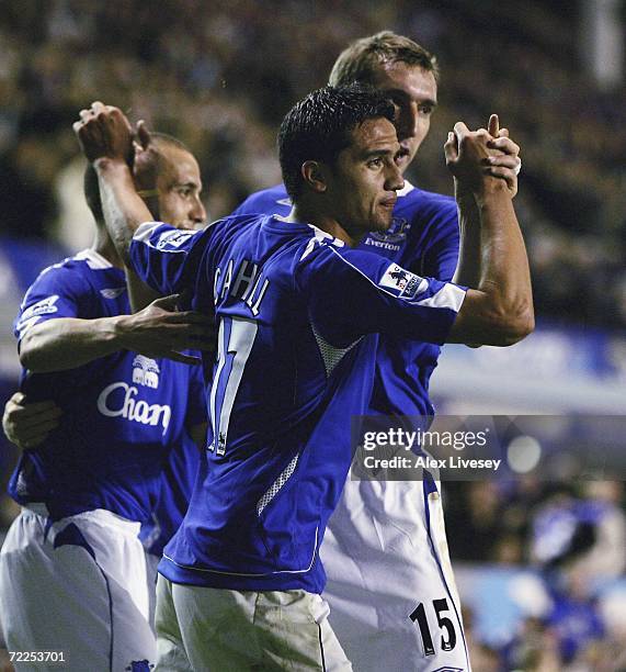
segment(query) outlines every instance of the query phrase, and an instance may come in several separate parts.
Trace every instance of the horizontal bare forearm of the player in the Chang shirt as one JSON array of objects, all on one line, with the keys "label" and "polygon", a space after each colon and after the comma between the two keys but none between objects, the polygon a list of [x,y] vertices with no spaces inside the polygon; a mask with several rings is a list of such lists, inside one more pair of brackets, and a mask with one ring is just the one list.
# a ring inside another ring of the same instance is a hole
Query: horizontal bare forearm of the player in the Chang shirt
[{"label": "horizontal bare forearm of the player in the Chang shirt", "polygon": [[124,347],[125,318],[62,317],[35,325],[22,338],[20,361],[36,373],[76,369]]}]

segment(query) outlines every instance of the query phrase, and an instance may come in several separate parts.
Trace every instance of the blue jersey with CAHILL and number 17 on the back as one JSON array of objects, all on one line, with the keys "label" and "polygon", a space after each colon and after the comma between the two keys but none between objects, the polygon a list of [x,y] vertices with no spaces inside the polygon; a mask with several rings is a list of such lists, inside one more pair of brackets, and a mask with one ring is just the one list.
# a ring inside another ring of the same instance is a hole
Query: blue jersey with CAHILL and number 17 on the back
[{"label": "blue jersey with CAHILL and number 17 on the back", "polygon": [[441,344],[465,296],[301,223],[231,216],[203,232],[146,223],[136,272],[215,313],[206,459],[159,571],[177,583],[320,592],[319,545],[369,404],[378,333]]}]

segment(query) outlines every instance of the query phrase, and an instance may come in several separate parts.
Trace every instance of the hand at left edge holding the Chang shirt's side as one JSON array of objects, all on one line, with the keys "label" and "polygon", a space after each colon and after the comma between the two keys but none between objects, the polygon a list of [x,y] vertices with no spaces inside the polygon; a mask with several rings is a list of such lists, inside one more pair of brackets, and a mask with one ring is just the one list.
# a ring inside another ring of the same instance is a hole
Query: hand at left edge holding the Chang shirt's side
[{"label": "hand at left edge holding the Chang shirt's side", "polygon": [[2,429],[18,448],[34,448],[58,427],[61,414],[53,401],[29,403],[22,392],[15,392],[4,405]]}]

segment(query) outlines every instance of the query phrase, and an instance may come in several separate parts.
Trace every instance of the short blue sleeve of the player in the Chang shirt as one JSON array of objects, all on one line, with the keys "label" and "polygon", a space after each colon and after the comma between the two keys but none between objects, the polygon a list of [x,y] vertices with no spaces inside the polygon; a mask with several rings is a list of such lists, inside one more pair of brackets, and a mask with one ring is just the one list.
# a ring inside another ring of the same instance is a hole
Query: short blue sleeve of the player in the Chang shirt
[{"label": "short blue sleeve of the player in the Chang shirt", "polygon": [[33,282],[14,323],[19,341],[35,324],[59,317],[89,317],[86,307],[91,287],[79,273],[62,266],[50,266]]}]

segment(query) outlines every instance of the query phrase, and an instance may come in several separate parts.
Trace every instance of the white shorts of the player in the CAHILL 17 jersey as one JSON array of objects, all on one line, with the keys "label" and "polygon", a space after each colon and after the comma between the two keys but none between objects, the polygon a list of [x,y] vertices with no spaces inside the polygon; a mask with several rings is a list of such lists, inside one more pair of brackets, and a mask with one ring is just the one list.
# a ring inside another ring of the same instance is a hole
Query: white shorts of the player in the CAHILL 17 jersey
[{"label": "white shorts of the player in the CAHILL 17 jersey", "polygon": [[306,591],[228,591],[157,583],[158,672],[350,672]]}]

